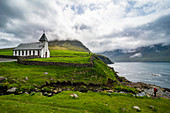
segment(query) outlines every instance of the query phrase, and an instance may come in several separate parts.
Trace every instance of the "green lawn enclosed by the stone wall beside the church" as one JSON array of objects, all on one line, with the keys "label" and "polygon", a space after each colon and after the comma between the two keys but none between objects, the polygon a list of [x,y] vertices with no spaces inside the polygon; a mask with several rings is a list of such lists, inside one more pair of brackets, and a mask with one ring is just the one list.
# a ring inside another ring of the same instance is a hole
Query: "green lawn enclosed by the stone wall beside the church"
[{"label": "green lawn enclosed by the stone wall beside the church", "polygon": [[51,58],[34,58],[27,59],[29,61],[44,61],[44,62],[65,62],[65,63],[89,63],[90,56],[88,57],[51,57]]}]

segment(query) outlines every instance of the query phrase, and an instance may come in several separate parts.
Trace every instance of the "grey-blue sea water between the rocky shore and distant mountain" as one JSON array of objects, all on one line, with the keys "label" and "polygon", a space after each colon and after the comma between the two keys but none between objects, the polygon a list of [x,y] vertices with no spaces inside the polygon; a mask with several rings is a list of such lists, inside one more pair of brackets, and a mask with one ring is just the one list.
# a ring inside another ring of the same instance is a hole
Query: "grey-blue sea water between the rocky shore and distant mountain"
[{"label": "grey-blue sea water between the rocky shore and distant mountain", "polygon": [[170,88],[170,62],[115,62],[108,66],[129,81]]}]

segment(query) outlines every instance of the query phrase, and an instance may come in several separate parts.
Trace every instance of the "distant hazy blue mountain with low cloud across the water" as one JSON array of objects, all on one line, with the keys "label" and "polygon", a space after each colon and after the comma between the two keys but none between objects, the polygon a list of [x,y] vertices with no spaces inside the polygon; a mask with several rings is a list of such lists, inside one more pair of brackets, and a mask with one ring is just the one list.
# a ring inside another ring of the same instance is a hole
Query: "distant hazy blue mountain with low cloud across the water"
[{"label": "distant hazy blue mountain with low cloud across the water", "polygon": [[170,61],[170,45],[157,44],[132,50],[117,49],[99,54],[113,61]]}]

